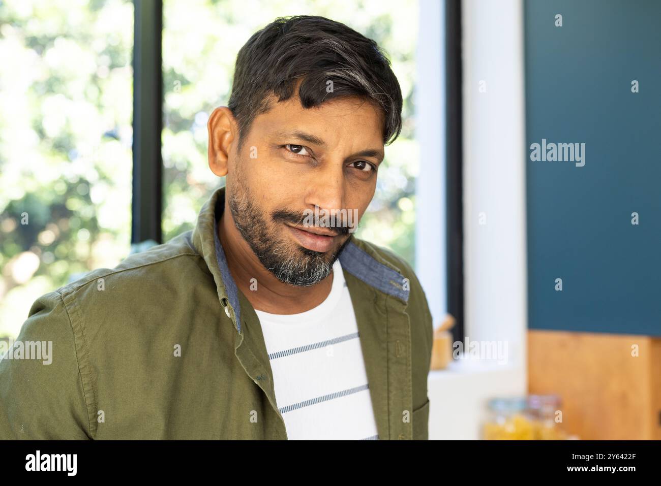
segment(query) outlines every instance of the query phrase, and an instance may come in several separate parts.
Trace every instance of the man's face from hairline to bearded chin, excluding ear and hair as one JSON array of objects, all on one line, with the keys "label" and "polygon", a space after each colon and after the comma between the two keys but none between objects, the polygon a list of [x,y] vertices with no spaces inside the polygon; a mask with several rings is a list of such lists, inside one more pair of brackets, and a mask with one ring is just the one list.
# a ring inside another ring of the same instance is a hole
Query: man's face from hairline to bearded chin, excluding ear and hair
[{"label": "man's face from hairline to bearded chin, excluding ear and hair", "polygon": [[[374,195],[383,119],[358,98],[305,109],[293,96],[271,106],[229,158],[229,207],[266,269],[291,285],[315,285],[331,273],[350,223],[355,228]],[[314,211],[319,218],[311,220]]]}]

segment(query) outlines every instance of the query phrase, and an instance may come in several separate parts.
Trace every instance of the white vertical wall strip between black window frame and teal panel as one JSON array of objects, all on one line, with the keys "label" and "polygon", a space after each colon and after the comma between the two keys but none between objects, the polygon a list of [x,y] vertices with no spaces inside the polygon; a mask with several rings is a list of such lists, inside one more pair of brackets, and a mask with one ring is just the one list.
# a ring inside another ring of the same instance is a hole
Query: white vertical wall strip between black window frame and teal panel
[{"label": "white vertical wall strip between black window frame and teal panel", "polygon": [[508,339],[513,364],[527,328],[523,33],[522,0],[463,1],[466,330]]}]

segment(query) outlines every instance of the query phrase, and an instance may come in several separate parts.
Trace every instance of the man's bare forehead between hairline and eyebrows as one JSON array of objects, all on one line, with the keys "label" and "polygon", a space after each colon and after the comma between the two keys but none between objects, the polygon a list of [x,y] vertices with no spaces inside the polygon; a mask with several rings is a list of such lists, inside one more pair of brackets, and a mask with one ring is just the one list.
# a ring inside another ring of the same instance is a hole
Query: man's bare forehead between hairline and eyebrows
[{"label": "man's bare forehead between hairline and eyebrows", "polygon": [[254,119],[255,129],[264,133],[302,129],[331,145],[354,141],[383,147],[383,111],[368,100],[343,96],[313,108],[303,108],[298,95],[282,102],[270,96],[268,102],[270,110]]}]

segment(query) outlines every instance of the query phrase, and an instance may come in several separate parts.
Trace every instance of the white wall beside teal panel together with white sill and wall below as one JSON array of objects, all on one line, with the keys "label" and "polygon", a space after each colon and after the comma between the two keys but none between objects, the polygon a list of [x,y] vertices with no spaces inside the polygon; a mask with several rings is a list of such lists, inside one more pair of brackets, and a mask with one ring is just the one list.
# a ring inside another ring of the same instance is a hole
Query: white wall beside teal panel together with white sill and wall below
[{"label": "white wall beside teal panel together with white sill and wall below", "polygon": [[488,398],[527,392],[522,0],[463,0],[462,17],[465,334],[506,341],[508,363],[431,372],[430,439],[477,439]]}]

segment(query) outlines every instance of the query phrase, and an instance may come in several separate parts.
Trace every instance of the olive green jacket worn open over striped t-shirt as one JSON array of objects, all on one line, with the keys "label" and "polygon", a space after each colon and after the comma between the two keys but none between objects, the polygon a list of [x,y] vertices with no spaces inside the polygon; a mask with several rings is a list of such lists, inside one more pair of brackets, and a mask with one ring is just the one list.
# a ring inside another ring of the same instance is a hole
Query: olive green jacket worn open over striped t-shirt
[{"label": "olive green jacket worn open over striped t-shirt", "polygon": [[[224,189],[194,230],[32,304],[0,359],[0,438],[286,439],[259,320],[217,236]],[[353,238],[340,263],[380,439],[427,439],[432,319],[410,266]]]}]

